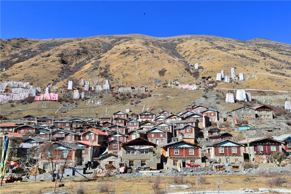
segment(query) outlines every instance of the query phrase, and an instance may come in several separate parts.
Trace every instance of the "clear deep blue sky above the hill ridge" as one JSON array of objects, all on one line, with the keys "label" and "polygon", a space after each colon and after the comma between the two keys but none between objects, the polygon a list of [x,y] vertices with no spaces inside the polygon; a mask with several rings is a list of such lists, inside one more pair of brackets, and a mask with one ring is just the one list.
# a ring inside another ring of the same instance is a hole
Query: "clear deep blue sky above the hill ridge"
[{"label": "clear deep blue sky above the hill ridge", "polygon": [[206,34],[291,44],[291,1],[1,1],[0,37]]}]

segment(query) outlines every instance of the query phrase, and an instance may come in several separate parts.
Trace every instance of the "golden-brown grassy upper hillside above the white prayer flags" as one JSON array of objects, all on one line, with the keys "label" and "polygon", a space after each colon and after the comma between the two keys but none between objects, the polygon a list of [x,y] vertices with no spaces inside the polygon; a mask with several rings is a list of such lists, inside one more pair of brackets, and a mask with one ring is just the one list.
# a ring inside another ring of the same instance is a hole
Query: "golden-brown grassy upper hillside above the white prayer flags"
[{"label": "golden-brown grassy upper hillside above the white prayer flags", "polygon": [[[114,85],[153,86],[179,79],[196,83],[222,69],[255,73],[258,80],[219,83],[218,87],[290,90],[291,45],[253,39],[240,41],[202,35],[156,38],[140,34],[67,39],[7,39],[0,47],[1,81],[30,81],[42,87],[68,80],[107,79]],[[177,58],[182,60],[177,60]],[[190,62],[187,60],[191,60]],[[203,71],[193,75],[190,63]],[[166,69],[164,76],[159,71]],[[138,76],[140,72],[140,76]],[[198,77],[197,77],[198,76]]]}]

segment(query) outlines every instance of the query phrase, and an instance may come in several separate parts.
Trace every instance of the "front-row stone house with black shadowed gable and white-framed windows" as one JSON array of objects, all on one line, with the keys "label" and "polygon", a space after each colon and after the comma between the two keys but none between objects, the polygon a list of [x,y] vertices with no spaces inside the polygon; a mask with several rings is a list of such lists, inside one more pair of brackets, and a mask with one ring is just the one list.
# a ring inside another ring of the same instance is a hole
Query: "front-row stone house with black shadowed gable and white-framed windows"
[{"label": "front-row stone house with black shadowed gable and white-framed windows", "polygon": [[122,162],[129,168],[150,167],[158,169],[160,155],[157,145],[141,137],[122,144]]}]

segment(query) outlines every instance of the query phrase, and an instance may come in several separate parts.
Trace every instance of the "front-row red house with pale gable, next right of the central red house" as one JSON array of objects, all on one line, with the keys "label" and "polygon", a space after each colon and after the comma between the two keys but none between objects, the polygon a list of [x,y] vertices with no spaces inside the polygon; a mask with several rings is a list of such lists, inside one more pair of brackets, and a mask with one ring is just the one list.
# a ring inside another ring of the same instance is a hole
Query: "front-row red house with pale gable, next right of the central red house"
[{"label": "front-row red house with pale gable, next right of the central red house", "polygon": [[243,149],[242,144],[229,139],[218,141],[207,146],[208,159],[216,159],[219,163],[243,162]]}]

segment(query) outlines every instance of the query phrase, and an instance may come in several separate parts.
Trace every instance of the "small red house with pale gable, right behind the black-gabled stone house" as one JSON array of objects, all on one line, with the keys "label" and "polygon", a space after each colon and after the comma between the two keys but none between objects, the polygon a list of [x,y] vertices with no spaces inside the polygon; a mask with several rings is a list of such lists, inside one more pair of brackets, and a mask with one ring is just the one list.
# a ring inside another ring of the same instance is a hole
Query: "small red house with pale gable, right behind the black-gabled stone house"
[{"label": "small red house with pale gable, right behind the black-gabled stone house", "polygon": [[149,129],[146,131],[146,134],[148,141],[153,142],[158,146],[168,144],[173,137],[172,132],[159,128]]}]

